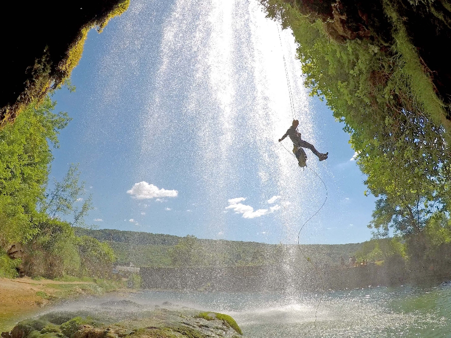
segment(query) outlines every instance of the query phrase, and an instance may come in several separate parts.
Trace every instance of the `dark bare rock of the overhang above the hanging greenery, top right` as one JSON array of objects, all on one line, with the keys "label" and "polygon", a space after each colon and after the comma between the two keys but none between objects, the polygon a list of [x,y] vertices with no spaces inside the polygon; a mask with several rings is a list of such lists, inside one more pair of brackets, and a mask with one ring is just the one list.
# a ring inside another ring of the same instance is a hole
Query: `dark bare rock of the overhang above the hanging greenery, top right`
[{"label": "dark bare rock of the overhang above the hanging greenery, top right", "polygon": [[[260,0],[262,3],[271,0]],[[451,63],[442,46],[451,44],[451,2],[411,0],[282,0],[301,14],[324,23],[329,37],[347,40],[370,39],[387,51],[393,45],[393,24],[384,7],[388,4],[405,26],[406,34],[431,78],[438,97],[451,105]],[[451,109],[447,116],[451,120]]]}]

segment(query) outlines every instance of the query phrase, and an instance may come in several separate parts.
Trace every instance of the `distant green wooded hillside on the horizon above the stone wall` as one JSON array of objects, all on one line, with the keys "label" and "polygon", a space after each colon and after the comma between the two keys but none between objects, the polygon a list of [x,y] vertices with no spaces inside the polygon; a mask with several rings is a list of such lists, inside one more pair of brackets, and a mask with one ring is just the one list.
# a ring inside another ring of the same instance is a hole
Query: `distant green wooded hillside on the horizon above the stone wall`
[{"label": "distant green wooded hillside on the horizon above the stone wall", "polygon": [[[90,230],[75,228],[78,236],[88,235],[108,242],[114,249],[118,264],[132,262],[136,266],[236,266],[303,264],[302,252],[320,264],[339,264],[361,249],[362,243],[286,245],[223,239],[198,239],[166,234],[114,229]],[[301,250],[299,250],[301,249]]]}]

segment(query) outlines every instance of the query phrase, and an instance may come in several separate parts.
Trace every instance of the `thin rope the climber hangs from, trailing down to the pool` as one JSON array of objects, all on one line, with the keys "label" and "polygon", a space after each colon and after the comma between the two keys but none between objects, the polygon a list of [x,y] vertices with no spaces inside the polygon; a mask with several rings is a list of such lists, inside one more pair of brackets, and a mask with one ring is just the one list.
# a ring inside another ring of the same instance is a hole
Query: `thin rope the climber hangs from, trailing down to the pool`
[{"label": "thin rope the climber hangs from, trailing down to the pool", "polygon": [[[281,48],[283,49],[283,46],[282,46],[282,39],[281,39],[281,37],[280,37],[279,25],[277,26],[277,31],[278,31],[278,33],[279,33],[280,46],[281,46]],[[286,79],[287,79],[288,94],[289,94],[289,96],[290,96],[291,116],[292,116],[292,118],[293,118],[293,120],[294,120],[294,103],[293,103],[293,98],[292,98],[290,79],[289,79],[289,77],[288,77],[287,63],[286,63],[286,61],[285,61],[285,56],[284,56],[284,55],[283,55],[283,60],[284,60],[284,67],[285,67],[285,77],[286,77]],[[285,150],[286,150],[287,152],[289,152],[291,155],[293,155],[295,158],[297,158],[295,154],[296,154],[297,151],[299,151],[299,148],[294,147],[294,148],[293,148],[293,152],[290,152],[290,151],[289,151],[289,150],[288,150],[281,142],[279,142],[279,143],[282,145],[282,147],[285,148]],[[324,297],[324,285],[325,285],[325,283],[324,283],[324,277],[323,277],[322,273],[320,272],[320,270],[318,269],[318,267],[313,263],[312,259],[310,259],[310,257],[308,257],[308,256],[304,253],[304,251],[302,251],[302,249],[301,249],[301,244],[300,244],[300,237],[301,237],[301,231],[302,231],[302,229],[304,228],[304,226],[305,226],[305,225],[306,225],[313,217],[315,217],[315,216],[321,211],[321,209],[323,208],[324,204],[326,204],[326,201],[327,201],[327,186],[326,186],[326,183],[324,182],[324,180],[321,178],[321,176],[318,175],[318,173],[317,173],[315,170],[313,170],[311,167],[307,166],[307,163],[306,163],[307,156],[305,155],[305,151],[304,151],[302,148],[300,148],[300,149],[302,150],[302,153],[301,153],[301,156],[300,156],[299,159],[298,159],[299,166],[300,166],[301,168],[303,168],[303,170],[305,169],[305,167],[307,167],[308,169],[310,169],[310,171],[312,171],[312,172],[313,172],[313,173],[321,180],[321,182],[323,183],[324,188],[325,188],[325,190],[326,190],[326,198],[324,199],[323,204],[320,206],[320,208],[319,208],[312,216],[310,216],[309,219],[307,219],[307,220],[304,222],[304,224],[302,224],[302,226],[301,226],[301,228],[299,229],[299,232],[298,232],[298,248],[299,248],[299,251],[300,251],[301,254],[304,256],[304,258],[305,258],[305,259],[313,266],[315,272],[317,273],[317,275],[318,275],[319,278],[321,279],[321,284],[322,284],[322,288],[321,288],[321,297],[320,297],[320,300],[319,300],[319,302],[318,302],[318,305],[316,306],[316,311],[315,311],[315,322],[314,322],[314,325],[316,326],[316,321],[317,321],[317,317],[318,317],[318,309],[319,309],[319,306],[320,306],[320,304],[321,304],[321,302],[322,302],[322,300],[323,300],[323,297]]]}]

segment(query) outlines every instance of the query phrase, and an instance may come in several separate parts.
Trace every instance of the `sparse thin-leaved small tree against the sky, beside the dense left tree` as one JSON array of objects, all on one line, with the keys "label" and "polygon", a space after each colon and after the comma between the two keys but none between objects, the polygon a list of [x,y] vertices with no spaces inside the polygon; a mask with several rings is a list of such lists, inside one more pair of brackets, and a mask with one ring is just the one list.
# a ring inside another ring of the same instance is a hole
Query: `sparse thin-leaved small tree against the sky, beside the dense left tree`
[{"label": "sparse thin-leaved small tree against the sky, beside the dense left tree", "polygon": [[[84,181],[80,181],[78,164],[72,163],[61,182],[54,179],[54,188],[42,201],[41,211],[46,212],[51,219],[73,213],[74,218],[71,224],[73,226],[84,226],[84,216],[94,209],[92,195],[84,200],[80,197],[85,192],[85,184]],[[78,207],[77,202],[81,200],[83,200],[83,204]]]}]

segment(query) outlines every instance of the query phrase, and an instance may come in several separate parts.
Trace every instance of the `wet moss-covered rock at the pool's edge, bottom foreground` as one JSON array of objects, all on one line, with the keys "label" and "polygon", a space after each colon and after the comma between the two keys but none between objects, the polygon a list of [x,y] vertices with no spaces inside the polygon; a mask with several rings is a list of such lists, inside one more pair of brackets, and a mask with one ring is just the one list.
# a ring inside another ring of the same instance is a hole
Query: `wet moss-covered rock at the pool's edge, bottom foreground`
[{"label": "wet moss-covered rock at the pool's edge, bottom foreground", "polygon": [[166,302],[145,309],[131,301],[50,312],[19,322],[3,338],[238,338],[242,331],[227,314],[201,312]]}]

